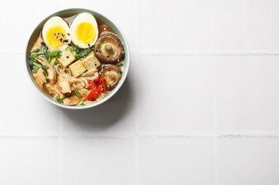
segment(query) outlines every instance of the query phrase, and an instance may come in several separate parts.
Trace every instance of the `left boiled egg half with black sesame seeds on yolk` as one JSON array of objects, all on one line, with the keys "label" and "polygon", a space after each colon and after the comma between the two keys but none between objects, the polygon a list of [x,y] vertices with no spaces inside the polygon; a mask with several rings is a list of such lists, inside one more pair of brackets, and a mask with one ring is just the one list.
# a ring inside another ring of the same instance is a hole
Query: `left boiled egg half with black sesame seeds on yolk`
[{"label": "left boiled egg half with black sesame seeds on yolk", "polygon": [[43,26],[42,36],[46,46],[51,51],[59,49],[64,51],[70,43],[70,28],[59,16],[48,19]]}]

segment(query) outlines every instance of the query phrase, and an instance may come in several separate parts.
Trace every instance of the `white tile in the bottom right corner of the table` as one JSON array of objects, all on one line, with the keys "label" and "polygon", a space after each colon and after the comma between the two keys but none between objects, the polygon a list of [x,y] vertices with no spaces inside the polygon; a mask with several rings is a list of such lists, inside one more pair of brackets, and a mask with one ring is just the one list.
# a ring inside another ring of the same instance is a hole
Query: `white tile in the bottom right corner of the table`
[{"label": "white tile in the bottom right corner of the table", "polygon": [[279,184],[279,139],[218,139],[219,184]]}]

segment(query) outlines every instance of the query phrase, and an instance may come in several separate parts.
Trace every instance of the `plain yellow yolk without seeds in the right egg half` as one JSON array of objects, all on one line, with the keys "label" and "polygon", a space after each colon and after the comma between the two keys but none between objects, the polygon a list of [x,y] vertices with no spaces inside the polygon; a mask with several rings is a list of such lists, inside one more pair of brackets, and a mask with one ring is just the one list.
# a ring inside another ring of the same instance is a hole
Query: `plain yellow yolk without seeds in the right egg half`
[{"label": "plain yellow yolk without seeds in the right egg half", "polygon": [[75,35],[81,43],[92,43],[95,38],[95,29],[91,23],[80,23],[75,30]]}]

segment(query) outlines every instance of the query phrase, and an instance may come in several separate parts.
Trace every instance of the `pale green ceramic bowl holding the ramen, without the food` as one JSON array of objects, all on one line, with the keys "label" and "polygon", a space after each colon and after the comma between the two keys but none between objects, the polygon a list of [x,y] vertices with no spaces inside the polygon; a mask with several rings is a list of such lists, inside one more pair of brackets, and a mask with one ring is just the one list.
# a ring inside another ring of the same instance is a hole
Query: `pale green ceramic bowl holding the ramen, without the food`
[{"label": "pale green ceramic bowl holding the ramen, without the food", "polygon": [[[43,28],[44,23],[46,23],[46,21],[48,21],[49,18],[51,18],[52,16],[65,16],[65,15],[69,15],[69,14],[80,14],[82,12],[87,12],[89,14],[93,14],[93,16],[95,16],[95,18],[99,19],[102,22],[107,23],[107,25],[110,26],[115,31],[115,33],[117,34],[117,36],[120,38],[120,40],[122,41],[122,43],[124,45],[124,50],[125,50],[124,65],[125,65],[125,69],[124,69],[124,71],[122,71],[122,78],[121,78],[120,82],[118,83],[118,85],[112,91],[110,91],[110,93],[108,93],[105,97],[103,97],[101,100],[92,102],[92,103],[90,103],[88,105],[84,105],[84,106],[81,106],[81,105],[76,105],[76,106],[63,105],[63,104],[60,104],[60,103],[56,102],[55,100],[53,100],[52,97],[50,97],[49,95],[46,95],[46,93],[43,93],[43,91],[40,90],[40,88],[38,88],[38,85],[36,85],[36,82],[33,79],[33,74],[32,74],[31,68],[29,66],[29,57],[30,57],[31,48],[33,46],[33,43],[36,41],[36,38],[38,37],[38,35],[41,33],[41,30]],[[107,18],[107,16],[104,16],[104,15],[102,15],[102,14],[96,12],[96,11],[92,11],[92,10],[88,10],[88,9],[65,9],[65,10],[57,11],[56,13],[51,14],[50,16],[46,17],[45,19],[43,19],[43,21],[41,21],[41,23],[38,24],[38,26],[36,26],[33,33],[31,33],[31,36],[28,40],[28,44],[27,44],[27,47],[26,47],[26,70],[27,70],[27,73],[28,73],[28,78],[33,85],[33,88],[35,88],[35,90],[44,99],[48,100],[48,102],[51,102],[54,105],[57,105],[58,107],[63,107],[63,108],[66,108],[66,109],[71,109],[71,110],[88,109],[88,108],[100,105],[103,102],[106,102],[107,100],[109,100],[122,87],[122,84],[124,83],[125,79],[127,78],[127,73],[128,73],[128,70],[129,70],[129,66],[130,66],[130,49],[129,49],[127,40],[126,40],[124,34],[122,33],[122,31],[120,30],[120,28],[110,18]]]}]

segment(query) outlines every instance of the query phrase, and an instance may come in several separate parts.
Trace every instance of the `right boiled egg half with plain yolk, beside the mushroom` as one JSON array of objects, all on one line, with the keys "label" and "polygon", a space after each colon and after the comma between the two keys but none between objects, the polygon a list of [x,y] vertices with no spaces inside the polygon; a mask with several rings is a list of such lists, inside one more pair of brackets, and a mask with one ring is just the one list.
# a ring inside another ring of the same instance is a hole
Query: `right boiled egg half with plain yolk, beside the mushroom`
[{"label": "right boiled egg half with plain yolk, beside the mushroom", "polygon": [[98,24],[92,14],[86,12],[78,14],[70,26],[70,36],[75,45],[89,48],[98,38]]}]

